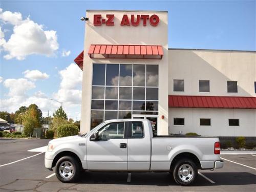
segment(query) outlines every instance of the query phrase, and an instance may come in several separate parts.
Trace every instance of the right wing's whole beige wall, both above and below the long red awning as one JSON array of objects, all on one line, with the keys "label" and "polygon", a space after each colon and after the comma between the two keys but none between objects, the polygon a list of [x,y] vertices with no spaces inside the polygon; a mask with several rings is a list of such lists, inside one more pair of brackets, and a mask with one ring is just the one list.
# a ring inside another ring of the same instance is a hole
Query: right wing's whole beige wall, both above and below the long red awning
[{"label": "right wing's whole beige wall, both above and below the long red awning", "polygon": [[[168,50],[169,95],[256,97],[256,52],[218,50]],[[184,79],[184,92],[173,91],[173,80]],[[210,80],[210,92],[199,92],[199,80]],[[227,81],[238,81],[238,93],[227,93]],[[185,118],[174,125],[173,118]],[[200,118],[210,118],[211,126],[200,126]],[[240,126],[228,126],[229,118]],[[196,132],[210,136],[256,136],[256,110],[169,108],[169,133]]]}]

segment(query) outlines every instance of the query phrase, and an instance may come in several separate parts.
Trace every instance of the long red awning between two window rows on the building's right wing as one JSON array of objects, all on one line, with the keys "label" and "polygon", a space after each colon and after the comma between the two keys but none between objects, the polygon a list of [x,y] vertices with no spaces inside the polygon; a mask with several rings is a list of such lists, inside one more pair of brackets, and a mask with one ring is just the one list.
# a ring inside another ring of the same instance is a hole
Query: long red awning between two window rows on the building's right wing
[{"label": "long red awning between two window rows on the building's right wing", "polygon": [[256,97],[169,95],[169,108],[256,109]]}]

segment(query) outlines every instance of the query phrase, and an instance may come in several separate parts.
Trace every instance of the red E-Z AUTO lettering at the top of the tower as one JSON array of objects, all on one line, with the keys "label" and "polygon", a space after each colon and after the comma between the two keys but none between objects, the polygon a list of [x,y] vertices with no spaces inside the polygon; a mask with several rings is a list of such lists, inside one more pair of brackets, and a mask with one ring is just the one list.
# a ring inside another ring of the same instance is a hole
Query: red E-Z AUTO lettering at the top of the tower
[{"label": "red E-Z AUTO lettering at the top of the tower", "polygon": [[[131,18],[131,19],[130,19]],[[159,16],[157,15],[131,15],[131,17],[124,14],[120,23],[120,26],[139,26],[140,23],[143,23],[143,26],[146,26],[147,23],[150,23],[151,26],[156,27],[159,23]],[[106,14],[105,18],[102,18],[101,14],[96,14],[93,17],[93,25],[101,26],[105,24],[106,26],[115,25],[115,15]]]}]

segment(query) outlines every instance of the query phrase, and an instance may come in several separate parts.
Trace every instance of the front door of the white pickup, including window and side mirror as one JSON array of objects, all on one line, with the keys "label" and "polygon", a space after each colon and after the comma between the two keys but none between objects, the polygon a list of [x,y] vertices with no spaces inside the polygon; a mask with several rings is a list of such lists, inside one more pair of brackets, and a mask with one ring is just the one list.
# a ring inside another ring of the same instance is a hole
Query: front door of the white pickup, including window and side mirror
[{"label": "front door of the white pickup, including window and side mirror", "polygon": [[124,122],[112,122],[98,130],[87,142],[87,167],[89,170],[127,170],[127,138]]}]

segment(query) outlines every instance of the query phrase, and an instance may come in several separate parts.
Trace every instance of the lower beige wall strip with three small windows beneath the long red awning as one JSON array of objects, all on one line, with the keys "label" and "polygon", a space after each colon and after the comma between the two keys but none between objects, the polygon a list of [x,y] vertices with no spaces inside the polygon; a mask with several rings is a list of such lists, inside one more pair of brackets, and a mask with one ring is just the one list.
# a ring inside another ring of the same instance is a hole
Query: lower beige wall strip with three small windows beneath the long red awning
[{"label": "lower beige wall strip with three small windows beneath the long red awning", "polygon": [[[255,117],[256,110],[253,109],[169,108],[169,133],[256,137]],[[174,118],[185,118],[185,125],[174,125]],[[211,119],[211,125],[200,126],[200,118]],[[239,126],[228,126],[228,119],[239,119]]]}]

